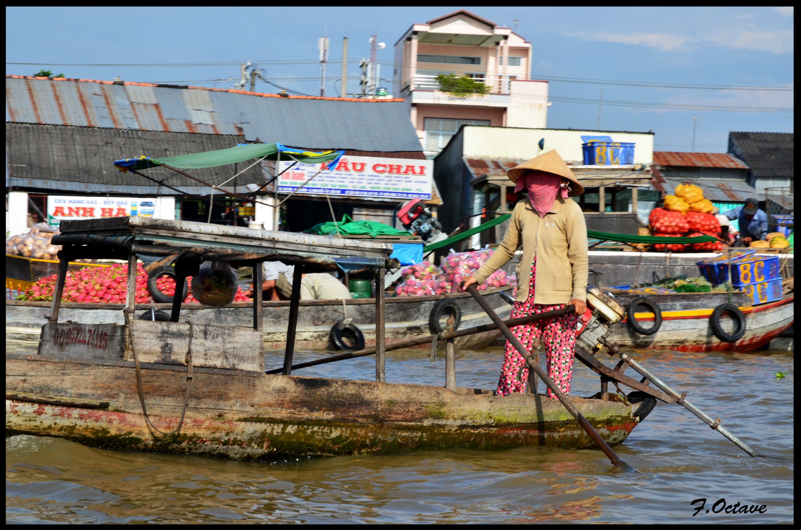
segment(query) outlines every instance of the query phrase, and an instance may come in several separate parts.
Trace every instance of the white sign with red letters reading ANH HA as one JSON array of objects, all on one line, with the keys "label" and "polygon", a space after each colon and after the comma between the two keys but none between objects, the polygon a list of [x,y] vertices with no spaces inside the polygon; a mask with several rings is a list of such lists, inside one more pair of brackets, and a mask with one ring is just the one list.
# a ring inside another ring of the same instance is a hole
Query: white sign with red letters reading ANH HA
[{"label": "white sign with red letters reading ANH HA", "polygon": [[155,215],[156,199],[141,197],[78,197],[50,195],[47,197],[47,224],[58,227],[64,219],[100,219]]}]

